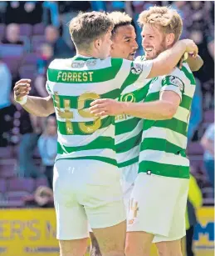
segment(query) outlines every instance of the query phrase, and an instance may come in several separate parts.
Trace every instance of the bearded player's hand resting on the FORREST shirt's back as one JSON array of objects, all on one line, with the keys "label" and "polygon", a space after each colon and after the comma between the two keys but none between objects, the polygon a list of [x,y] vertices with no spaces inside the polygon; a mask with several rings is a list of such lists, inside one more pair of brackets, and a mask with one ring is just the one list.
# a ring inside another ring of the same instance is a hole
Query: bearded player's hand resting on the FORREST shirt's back
[{"label": "bearded player's hand resting on the FORREST shirt's back", "polygon": [[90,113],[97,117],[117,116],[123,113],[123,103],[115,99],[101,98],[90,103]]}]

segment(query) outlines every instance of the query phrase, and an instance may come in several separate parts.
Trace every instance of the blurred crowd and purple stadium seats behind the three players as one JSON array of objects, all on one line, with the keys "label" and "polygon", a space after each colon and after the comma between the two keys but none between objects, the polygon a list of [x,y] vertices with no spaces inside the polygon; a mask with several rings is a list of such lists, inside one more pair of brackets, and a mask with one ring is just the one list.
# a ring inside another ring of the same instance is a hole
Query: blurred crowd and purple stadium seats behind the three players
[{"label": "blurred crowd and purple stadium seats behind the three players", "polygon": [[12,88],[32,79],[34,96],[46,97],[46,68],[53,58],[72,58],[68,23],[80,11],[129,13],[141,47],[139,13],[172,5],[183,18],[182,38],[198,44],[204,65],[197,73],[188,128],[191,173],[213,205],[214,188],[214,3],[212,1],[11,1],[0,2],[0,207],[53,206],[51,179],[56,157],[56,119],[37,118],[14,103]]}]

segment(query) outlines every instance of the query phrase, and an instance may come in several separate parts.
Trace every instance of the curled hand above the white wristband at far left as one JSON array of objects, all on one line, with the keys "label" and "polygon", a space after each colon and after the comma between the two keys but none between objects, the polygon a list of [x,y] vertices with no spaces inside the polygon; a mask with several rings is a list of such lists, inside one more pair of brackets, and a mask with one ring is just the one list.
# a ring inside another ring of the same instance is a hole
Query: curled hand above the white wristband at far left
[{"label": "curled hand above the white wristband at far left", "polygon": [[15,83],[15,86],[13,88],[14,92],[14,99],[19,102],[22,101],[23,97],[29,94],[29,91],[31,91],[31,85],[32,82],[31,79],[21,79],[17,83]]}]

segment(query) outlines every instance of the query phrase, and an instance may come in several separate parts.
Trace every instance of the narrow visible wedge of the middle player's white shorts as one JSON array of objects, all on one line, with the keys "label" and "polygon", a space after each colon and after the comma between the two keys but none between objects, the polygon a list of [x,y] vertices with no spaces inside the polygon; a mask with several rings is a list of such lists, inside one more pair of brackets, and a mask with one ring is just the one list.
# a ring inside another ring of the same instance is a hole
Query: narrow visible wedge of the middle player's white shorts
[{"label": "narrow visible wedge of the middle player's white shorts", "polygon": [[120,183],[122,186],[126,212],[129,209],[129,199],[134,188],[134,181],[137,178],[138,167],[138,163],[133,163],[129,166],[125,166],[124,168],[120,168]]}]

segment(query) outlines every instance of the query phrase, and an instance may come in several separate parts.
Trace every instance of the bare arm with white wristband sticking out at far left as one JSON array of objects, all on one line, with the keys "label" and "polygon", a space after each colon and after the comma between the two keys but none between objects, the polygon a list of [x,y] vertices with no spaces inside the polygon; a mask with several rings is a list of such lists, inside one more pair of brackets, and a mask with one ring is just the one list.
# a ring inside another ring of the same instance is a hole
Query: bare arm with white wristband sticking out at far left
[{"label": "bare arm with white wristband sticking out at far left", "polygon": [[[54,106],[51,96],[46,98],[28,96],[31,90],[31,80],[21,79],[13,88],[14,99],[17,103],[21,103],[22,108],[27,110],[28,113],[32,113],[38,117],[47,117],[51,113],[54,113]],[[27,98],[27,101],[25,100]]]}]

